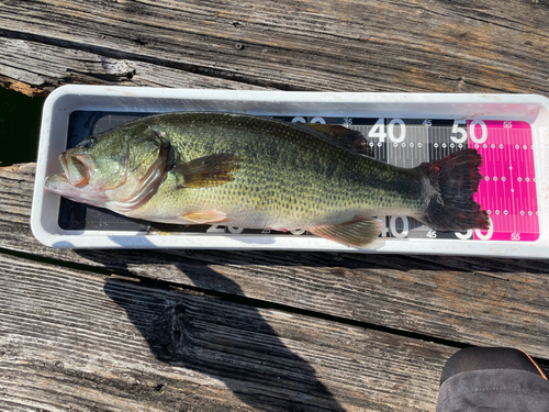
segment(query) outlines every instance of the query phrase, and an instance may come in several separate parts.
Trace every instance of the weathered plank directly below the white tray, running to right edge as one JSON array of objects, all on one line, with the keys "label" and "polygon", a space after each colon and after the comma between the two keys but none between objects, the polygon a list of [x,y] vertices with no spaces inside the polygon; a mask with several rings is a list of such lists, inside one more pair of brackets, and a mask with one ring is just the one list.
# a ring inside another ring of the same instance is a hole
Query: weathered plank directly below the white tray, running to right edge
[{"label": "weathered plank directly below the white tray, running to right edge", "polygon": [[0,247],[549,359],[547,260],[220,250],[63,250],[30,232],[33,166],[0,168]]}]

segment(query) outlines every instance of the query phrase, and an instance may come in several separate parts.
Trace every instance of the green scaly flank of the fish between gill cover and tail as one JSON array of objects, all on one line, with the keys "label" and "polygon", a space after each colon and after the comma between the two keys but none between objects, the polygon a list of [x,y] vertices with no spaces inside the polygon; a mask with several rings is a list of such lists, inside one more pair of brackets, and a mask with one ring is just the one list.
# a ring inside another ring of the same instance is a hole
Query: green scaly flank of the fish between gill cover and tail
[{"label": "green scaly flank of the fish between gill cover and tail", "polygon": [[366,211],[371,215],[423,207],[410,196],[414,179],[410,169],[390,168],[278,121],[229,114],[220,121],[215,114],[188,114],[147,122],[187,162],[231,153],[242,163],[233,172],[234,181],[219,187],[181,191],[173,189],[176,179],[165,181],[139,211],[145,215],[158,208],[173,215],[178,204],[187,204],[188,210],[216,205],[229,212],[234,225],[290,230],[320,219],[341,223]]}]

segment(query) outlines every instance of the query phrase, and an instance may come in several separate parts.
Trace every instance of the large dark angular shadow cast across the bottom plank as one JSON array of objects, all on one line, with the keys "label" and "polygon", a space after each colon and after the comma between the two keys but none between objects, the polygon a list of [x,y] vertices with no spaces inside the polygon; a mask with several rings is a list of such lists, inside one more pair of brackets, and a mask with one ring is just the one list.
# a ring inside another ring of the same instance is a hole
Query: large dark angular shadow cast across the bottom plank
[{"label": "large dark angular shadow cast across the bottom plank", "polygon": [[[210,276],[231,283],[227,289],[238,288],[213,270]],[[104,291],[126,311],[159,360],[224,381],[253,408],[344,410],[315,370],[279,339],[256,308],[222,300],[212,305],[212,298],[186,293],[152,302],[143,289],[128,299],[127,283],[108,279]],[[144,305],[157,316],[144,318]]]}]

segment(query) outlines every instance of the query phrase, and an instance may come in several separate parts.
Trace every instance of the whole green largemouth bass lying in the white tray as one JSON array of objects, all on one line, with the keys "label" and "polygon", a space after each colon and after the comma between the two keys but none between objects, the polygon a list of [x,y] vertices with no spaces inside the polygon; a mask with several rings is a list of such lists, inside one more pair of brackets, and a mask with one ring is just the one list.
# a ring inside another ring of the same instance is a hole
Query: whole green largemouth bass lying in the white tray
[{"label": "whole green largemouth bass lying in the white tray", "polygon": [[482,163],[464,149],[415,168],[363,154],[359,132],[246,114],[166,113],[90,136],[60,155],[46,190],[131,218],[228,223],[365,246],[377,215],[439,231],[488,229],[473,201]]}]

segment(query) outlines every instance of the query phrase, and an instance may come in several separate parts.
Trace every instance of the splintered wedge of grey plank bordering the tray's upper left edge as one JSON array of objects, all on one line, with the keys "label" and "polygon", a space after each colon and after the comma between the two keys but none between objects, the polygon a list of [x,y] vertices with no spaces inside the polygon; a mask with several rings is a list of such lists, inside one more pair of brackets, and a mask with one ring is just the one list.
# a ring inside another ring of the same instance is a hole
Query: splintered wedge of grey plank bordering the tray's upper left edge
[{"label": "splintered wedge of grey plank bordering the tray's upper left edge", "polygon": [[[105,57],[18,38],[0,37],[0,73],[3,76],[0,76],[0,85],[26,94],[48,92],[61,83],[265,89],[146,62]],[[25,85],[38,85],[38,88]]]}]

